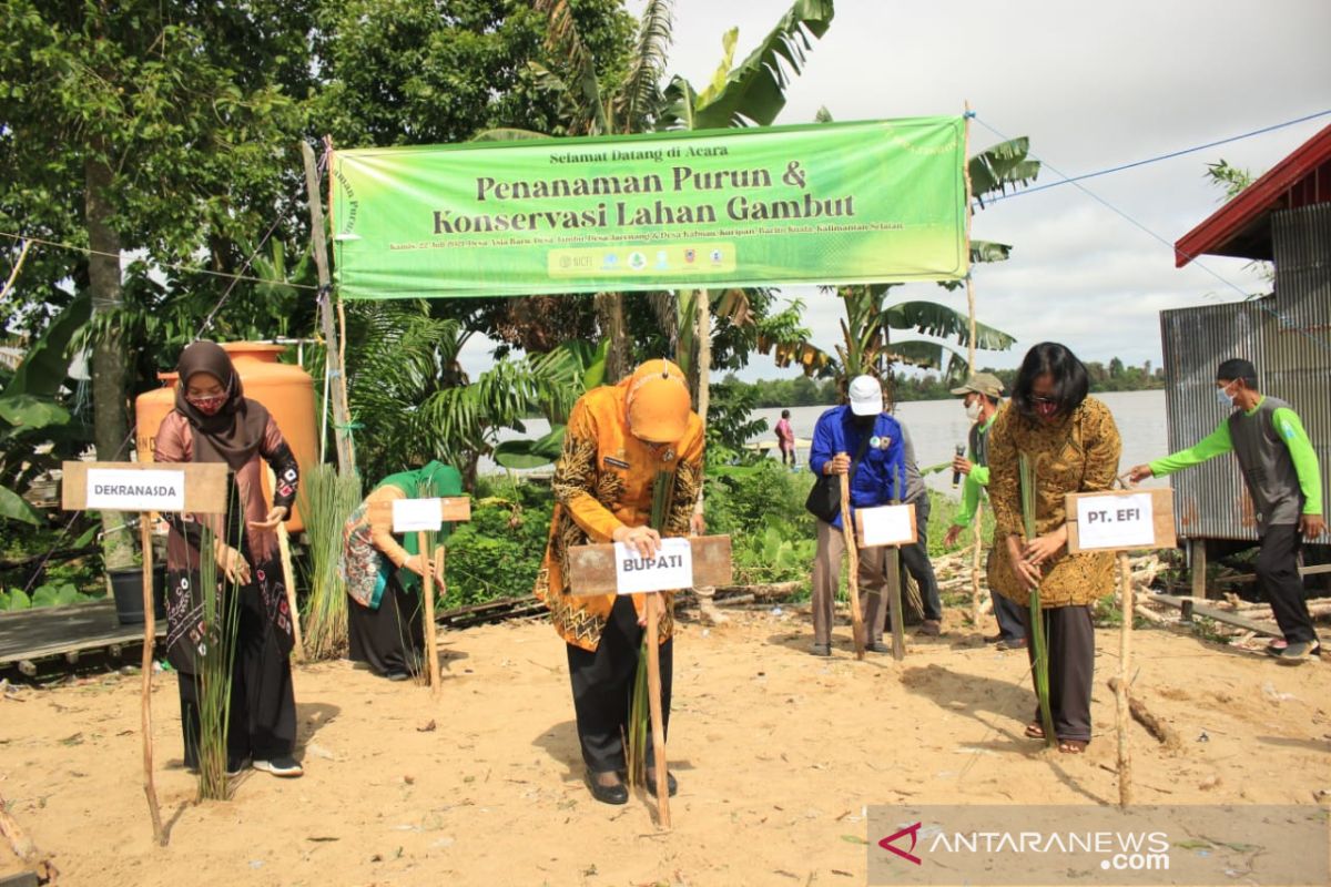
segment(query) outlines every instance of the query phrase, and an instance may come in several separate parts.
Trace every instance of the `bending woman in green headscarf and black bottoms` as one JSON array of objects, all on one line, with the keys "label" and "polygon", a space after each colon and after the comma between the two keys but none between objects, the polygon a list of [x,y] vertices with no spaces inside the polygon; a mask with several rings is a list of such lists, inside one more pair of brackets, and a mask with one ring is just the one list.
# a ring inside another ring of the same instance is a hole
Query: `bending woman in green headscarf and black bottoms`
[{"label": "bending woman in green headscarf and black bottoms", "polygon": [[[401,545],[393,537],[391,505],[371,505],[459,495],[462,475],[451,465],[431,461],[381,480],[346,521],[342,576],[350,598],[349,656],[390,681],[405,681],[421,672],[425,626],[419,589],[421,577],[433,564],[429,552],[418,551],[415,533],[407,533]],[[446,524],[441,537],[447,537],[450,529]]]}]

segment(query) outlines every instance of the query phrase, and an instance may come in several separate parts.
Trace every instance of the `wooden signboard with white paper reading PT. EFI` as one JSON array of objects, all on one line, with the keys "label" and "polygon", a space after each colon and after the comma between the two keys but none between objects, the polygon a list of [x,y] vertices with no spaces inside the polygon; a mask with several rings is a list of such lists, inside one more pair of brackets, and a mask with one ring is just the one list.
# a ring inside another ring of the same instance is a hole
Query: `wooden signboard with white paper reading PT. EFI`
[{"label": "wooden signboard with white paper reading PT. EFI", "polygon": [[1067,496],[1067,551],[1173,548],[1174,500],[1167,488]]}]

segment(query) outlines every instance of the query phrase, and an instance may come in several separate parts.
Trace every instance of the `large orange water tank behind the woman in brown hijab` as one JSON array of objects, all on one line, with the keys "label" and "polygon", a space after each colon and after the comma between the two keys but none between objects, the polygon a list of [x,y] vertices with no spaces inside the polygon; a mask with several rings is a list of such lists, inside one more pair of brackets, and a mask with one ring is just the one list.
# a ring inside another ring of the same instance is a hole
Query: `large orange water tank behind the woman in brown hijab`
[{"label": "large orange water tank behind the woman in brown hijab", "polygon": [[[319,456],[314,419],[314,379],[301,367],[277,362],[278,355],[286,351],[286,346],[266,342],[224,342],[221,346],[236,364],[236,372],[245,386],[245,396],[268,407],[286,443],[290,444],[291,453],[301,465],[301,473],[309,472],[318,464]],[[134,443],[138,447],[140,461],[152,461],[157,430],[166,414],[176,407],[176,374],[160,372],[157,378],[162,380],[164,387],[144,392],[134,400],[137,420]],[[264,492],[269,497],[273,495],[266,476]],[[291,512],[286,528],[291,532],[305,529],[299,509]]]}]

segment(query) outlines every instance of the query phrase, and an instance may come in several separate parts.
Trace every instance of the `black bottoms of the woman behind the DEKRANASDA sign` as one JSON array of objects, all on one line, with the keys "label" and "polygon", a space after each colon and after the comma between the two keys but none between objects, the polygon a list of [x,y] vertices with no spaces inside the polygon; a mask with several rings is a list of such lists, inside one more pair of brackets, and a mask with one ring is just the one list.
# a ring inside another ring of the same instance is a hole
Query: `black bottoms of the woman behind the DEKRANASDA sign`
[{"label": "black bottoms of the woman behind the DEKRANASDA sign", "polygon": [[[226,761],[234,767],[253,758],[289,755],[295,747],[295,693],[291,661],[264,614],[258,589],[240,590],[236,657],[232,664],[230,714]],[[198,766],[197,676],[180,676],[180,725],[185,739],[185,766]]]}]

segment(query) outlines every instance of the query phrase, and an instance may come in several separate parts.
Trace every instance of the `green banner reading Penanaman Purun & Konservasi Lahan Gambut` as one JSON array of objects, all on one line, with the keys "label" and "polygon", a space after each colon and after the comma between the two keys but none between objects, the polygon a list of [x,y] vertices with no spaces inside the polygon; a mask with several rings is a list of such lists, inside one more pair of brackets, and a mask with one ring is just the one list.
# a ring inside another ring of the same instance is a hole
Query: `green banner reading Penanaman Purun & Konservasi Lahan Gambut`
[{"label": "green banner reading Penanaman Purun & Konservasi Lahan Gambut", "polygon": [[337,152],[349,299],[965,277],[965,122]]}]

